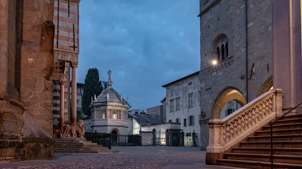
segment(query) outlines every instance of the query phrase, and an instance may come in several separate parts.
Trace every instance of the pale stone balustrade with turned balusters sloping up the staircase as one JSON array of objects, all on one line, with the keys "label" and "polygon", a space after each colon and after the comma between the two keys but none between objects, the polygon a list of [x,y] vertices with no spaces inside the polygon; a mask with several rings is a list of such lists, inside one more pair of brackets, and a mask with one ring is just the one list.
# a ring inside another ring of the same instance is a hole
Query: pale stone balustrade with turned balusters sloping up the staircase
[{"label": "pale stone balustrade with turned balusters sloping up the staircase", "polygon": [[210,119],[207,153],[223,153],[282,115],[282,93],[266,92],[222,120]]}]

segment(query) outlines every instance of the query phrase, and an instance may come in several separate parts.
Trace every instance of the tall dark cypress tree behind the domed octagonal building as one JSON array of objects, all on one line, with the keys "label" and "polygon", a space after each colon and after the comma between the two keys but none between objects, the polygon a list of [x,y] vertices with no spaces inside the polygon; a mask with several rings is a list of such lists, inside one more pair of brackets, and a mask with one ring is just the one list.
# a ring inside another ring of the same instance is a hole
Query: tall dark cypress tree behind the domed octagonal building
[{"label": "tall dark cypress tree behind the domed octagonal building", "polygon": [[98,69],[89,69],[85,77],[82,97],[82,109],[85,115],[91,116],[91,110],[89,108],[91,97],[94,97],[94,95],[98,96],[102,90],[103,87],[100,84]]}]

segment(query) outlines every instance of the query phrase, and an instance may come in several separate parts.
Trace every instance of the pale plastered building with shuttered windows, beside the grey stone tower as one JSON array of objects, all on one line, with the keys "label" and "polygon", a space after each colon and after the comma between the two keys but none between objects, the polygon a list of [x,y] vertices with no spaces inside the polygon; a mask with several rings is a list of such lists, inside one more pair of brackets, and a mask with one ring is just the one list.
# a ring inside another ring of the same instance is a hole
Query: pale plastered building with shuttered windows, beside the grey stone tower
[{"label": "pale plastered building with shuttered windows, beside the grey stone tower", "polygon": [[167,122],[181,123],[185,133],[185,146],[192,145],[191,133],[195,131],[197,146],[200,146],[200,82],[199,71],[163,85],[166,88]]}]

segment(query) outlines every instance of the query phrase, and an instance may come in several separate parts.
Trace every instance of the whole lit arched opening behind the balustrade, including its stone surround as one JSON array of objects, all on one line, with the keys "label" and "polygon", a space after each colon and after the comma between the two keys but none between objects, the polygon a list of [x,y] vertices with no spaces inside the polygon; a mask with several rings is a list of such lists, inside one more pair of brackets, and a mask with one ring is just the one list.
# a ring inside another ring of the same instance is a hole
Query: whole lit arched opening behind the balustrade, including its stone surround
[{"label": "whole lit arched opening behind the balustrade, including its stone surround", "polygon": [[224,88],[216,97],[212,107],[212,118],[224,118],[247,104],[242,92],[235,87]]}]

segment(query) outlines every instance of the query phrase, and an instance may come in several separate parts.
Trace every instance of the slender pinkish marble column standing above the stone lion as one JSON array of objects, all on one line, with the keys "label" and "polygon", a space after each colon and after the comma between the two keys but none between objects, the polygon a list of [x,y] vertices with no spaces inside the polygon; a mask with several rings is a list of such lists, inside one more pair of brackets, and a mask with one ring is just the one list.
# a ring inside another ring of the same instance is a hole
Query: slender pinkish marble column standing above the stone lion
[{"label": "slender pinkish marble column standing above the stone lion", "polygon": [[77,68],[78,62],[71,62],[71,124],[77,123]]}]

